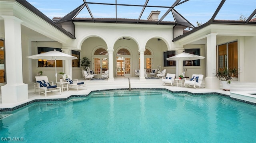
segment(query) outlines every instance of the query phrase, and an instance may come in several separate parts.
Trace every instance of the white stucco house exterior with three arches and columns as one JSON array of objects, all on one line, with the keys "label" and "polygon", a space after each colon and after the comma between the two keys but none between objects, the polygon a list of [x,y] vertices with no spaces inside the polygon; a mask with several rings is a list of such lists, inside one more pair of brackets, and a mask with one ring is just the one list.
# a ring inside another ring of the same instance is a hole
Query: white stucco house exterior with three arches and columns
[{"label": "white stucco house exterior with three arches and columns", "polygon": [[[219,81],[214,77],[217,61],[216,45],[238,41],[240,74],[236,80],[256,82],[255,25],[210,24],[173,42],[173,35],[177,37],[183,33],[182,28],[173,32],[174,25],[75,22],[75,39],[72,39],[14,0],[1,0],[0,14],[0,38],[5,41],[7,76],[7,82],[1,83],[2,102],[25,100],[28,95],[27,84],[35,81],[34,76],[38,71],[43,71],[49,80],[55,79],[53,67],[39,68],[36,60],[26,58],[37,54],[37,47],[60,48],[64,53],[69,54],[71,50],[80,51],[80,57],[88,57],[92,65],[94,51],[97,48],[106,49],[109,80],[114,80],[116,77],[115,58],[121,48],[130,51],[129,76],[135,76],[132,72],[135,69],[144,69],[145,49],[152,52],[153,69],[161,66],[161,69],[167,70],[166,73],[175,73],[176,76],[182,72],[182,61],[176,62],[176,65],[179,65],[177,69],[164,67],[163,52],[180,53],[184,49],[200,49],[200,55],[206,58],[200,61],[200,66],[186,66],[186,76],[203,74],[206,87],[216,89],[219,88]],[[119,40],[123,37],[130,40]],[[72,67],[70,61],[63,61],[63,65],[64,67],[57,68],[57,72],[66,72],[73,78],[82,78],[81,69]],[[139,79],[144,80],[144,73],[140,75]],[[10,95],[12,99],[9,98]]]}]

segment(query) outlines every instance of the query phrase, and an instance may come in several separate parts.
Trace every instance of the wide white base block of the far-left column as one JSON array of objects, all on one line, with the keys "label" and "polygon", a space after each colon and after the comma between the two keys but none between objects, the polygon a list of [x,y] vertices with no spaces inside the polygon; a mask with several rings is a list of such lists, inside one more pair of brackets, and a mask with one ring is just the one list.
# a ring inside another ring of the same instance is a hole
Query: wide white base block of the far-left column
[{"label": "wide white base block of the far-left column", "polygon": [[2,104],[16,103],[28,99],[28,84],[6,84],[1,87]]}]

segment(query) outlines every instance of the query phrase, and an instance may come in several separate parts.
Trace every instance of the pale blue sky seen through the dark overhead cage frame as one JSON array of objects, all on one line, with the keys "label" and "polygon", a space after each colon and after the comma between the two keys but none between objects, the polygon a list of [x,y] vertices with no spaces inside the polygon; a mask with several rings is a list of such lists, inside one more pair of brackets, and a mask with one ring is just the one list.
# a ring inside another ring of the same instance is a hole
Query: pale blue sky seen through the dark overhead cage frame
[{"label": "pale blue sky seen through the dark overhead cage frame", "polygon": [[[30,4],[52,19],[63,17],[81,4],[83,0],[27,0]],[[117,0],[118,4],[143,5],[146,0]],[[176,0],[149,0],[148,6],[171,6]],[[181,2],[184,0],[181,0]],[[86,0],[86,2],[100,2],[115,4],[116,0]],[[189,0],[176,6],[174,9],[186,18],[191,24],[204,24],[214,14],[221,0]],[[88,4],[94,18],[115,18],[116,7],[109,5]],[[152,10],[160,11],[159,18],[169,8],[146,8],[141,19],[146,20]],[[250,16],[256,9],[256,0],[226,0],[215,20],[238,20],[240,15]],[[118,6],[117,18],[138,19],[142,7]],[[91,18],[87,8],[76,18]],[[174,21],[171,12],[163,21]]]}]

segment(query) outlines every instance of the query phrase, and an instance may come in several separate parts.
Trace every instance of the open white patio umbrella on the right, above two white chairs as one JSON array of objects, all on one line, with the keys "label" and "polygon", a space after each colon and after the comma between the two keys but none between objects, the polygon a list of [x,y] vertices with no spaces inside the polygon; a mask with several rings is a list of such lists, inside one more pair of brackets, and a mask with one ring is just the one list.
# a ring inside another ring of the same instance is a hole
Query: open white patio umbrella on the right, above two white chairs
[{"label": "open white patio umbrella on the right, above two white chairs", "polygon": [[191,60],[199,60],[199,59],[204,59],[205,57],[203,56],[198,56],[190,53],[180,53],[178,55],[166,58],[168,61],[180,61],[183,60],[183,76],[185,76],[185,64],[184,61],[191,61]]}]

